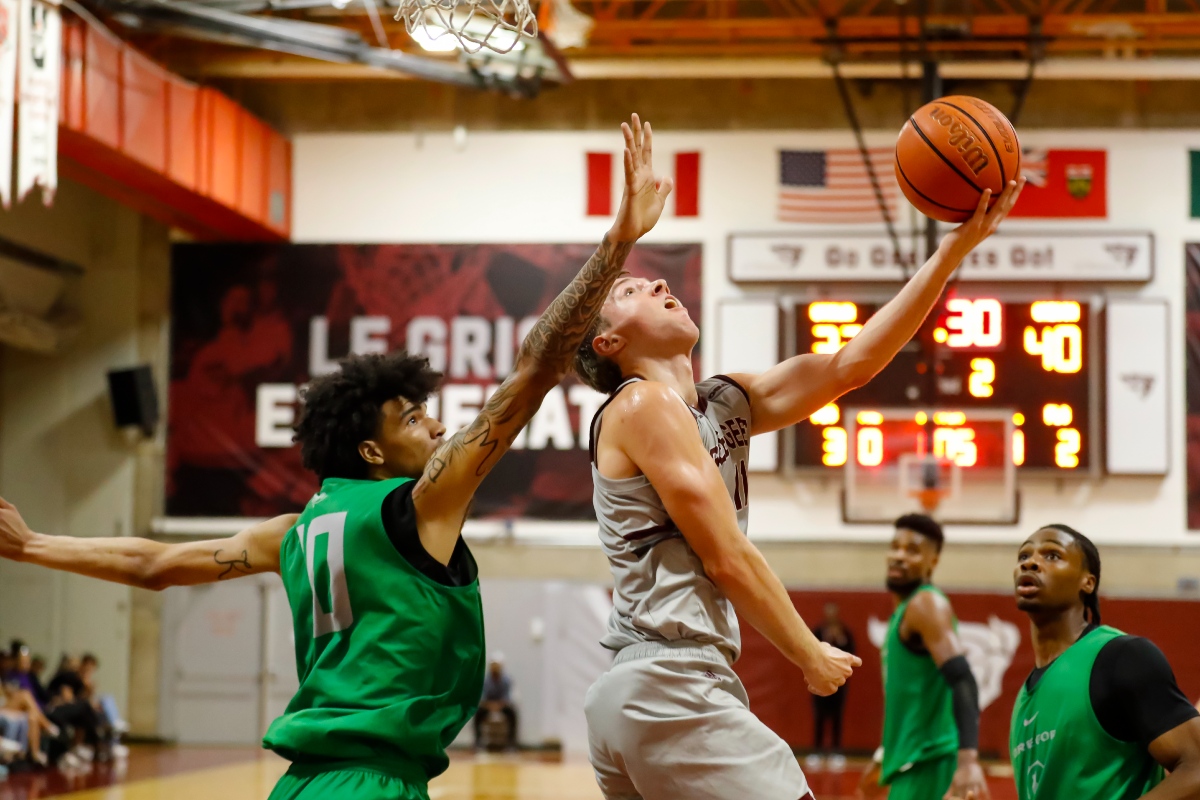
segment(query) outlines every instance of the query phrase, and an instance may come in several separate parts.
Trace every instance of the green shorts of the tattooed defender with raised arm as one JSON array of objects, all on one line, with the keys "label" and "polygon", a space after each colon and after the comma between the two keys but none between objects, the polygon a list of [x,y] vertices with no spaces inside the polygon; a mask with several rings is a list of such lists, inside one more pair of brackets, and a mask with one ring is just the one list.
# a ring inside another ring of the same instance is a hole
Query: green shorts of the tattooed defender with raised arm
[{"label": "green shorts of the tattooed defender with raised arm", "polygon": [[293,763],[270,800],[430,800],[424,772],[376,764],[311,765]]}]

